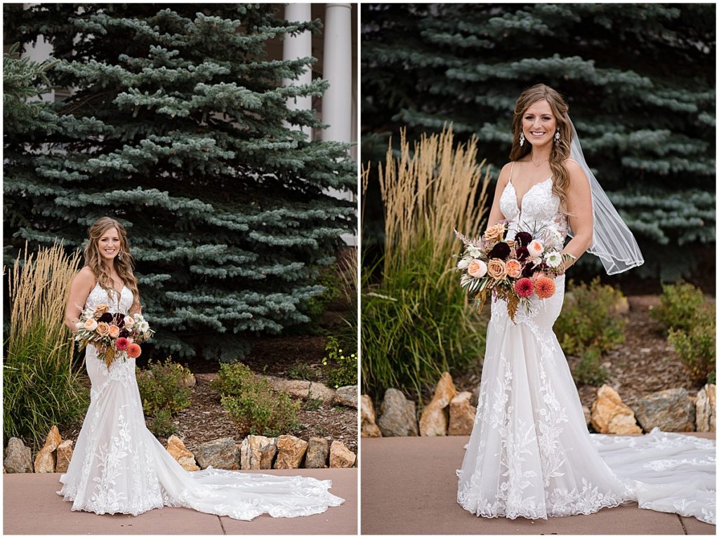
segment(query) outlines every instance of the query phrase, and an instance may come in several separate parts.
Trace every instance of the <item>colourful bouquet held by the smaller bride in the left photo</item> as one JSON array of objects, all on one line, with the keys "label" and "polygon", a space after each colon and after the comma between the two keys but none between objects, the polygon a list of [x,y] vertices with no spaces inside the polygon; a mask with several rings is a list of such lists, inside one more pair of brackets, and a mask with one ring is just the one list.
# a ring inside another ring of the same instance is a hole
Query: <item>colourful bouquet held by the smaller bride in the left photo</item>
[{"label": "colourful bouquet held by the smaller bride in the left photo", "polygon": [[142,314],[127,315],[122,312],[108,312],[108,305],[83,310],[77,323],[78,332],[75,340],[80,349],[88,344],[98,350],[98,358],[110,367],[116,358],[123,361],[137,358],[142,353],[140,344],[150,339],[154,330],[142,317]]}]

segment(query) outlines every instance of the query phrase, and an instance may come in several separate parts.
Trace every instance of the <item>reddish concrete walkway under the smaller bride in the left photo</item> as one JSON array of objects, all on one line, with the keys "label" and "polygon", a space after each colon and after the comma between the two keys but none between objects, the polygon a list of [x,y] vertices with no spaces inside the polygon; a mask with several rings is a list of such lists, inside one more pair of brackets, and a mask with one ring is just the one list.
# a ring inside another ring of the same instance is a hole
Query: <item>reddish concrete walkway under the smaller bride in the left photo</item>
[{"label": "reddish concrete walkway under the smaller bride in the left photo", "polygon": [[323,514],[252,521],[203,514],[186,508],[150,510],[139,516],[71,511],[55,491],[60,474],[3,475],[3,534],[357,534],[357,469],[242,471],[331,480],[330,490],[344,498]]}]

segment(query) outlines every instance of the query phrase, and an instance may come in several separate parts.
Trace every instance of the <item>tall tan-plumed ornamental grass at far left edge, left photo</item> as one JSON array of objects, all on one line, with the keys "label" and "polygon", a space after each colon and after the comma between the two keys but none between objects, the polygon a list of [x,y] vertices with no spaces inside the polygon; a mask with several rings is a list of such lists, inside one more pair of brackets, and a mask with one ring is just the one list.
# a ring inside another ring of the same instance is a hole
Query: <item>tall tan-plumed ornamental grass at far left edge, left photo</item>
[{"label": "tall tan-plumed ornamental grass at far left edge, left photo", "polygon": [[[80,253],[62,246],[20,254],[8,275],[11,305],[3,363],[3,443],[40,445],[50,427],[83,416],[88,391],[73,370],[73,337],[65,324],[70,279]],[[22,257],[22,259],[21,259]]]}]

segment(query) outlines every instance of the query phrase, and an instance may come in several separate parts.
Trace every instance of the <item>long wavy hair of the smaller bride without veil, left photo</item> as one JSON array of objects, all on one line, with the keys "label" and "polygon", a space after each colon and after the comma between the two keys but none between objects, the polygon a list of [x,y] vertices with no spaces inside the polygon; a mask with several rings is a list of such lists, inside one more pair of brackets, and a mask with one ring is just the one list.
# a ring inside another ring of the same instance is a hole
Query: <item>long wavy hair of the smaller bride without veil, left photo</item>
[{"label": "long wavy hair of the smaller bride without veil, left photo", "polygon": [[139,307],[139,292],[137,291],[137,279],[132,274],[134,269],[134,261],[130,254],[129,244],[127,242],[127,231],[121,223],[116,221],[114,218],[101,217],[88,228],[88,244],[85,246],[85,265],[88,266],[100,287],[108,293],[116,294],[114,283],[110,277],[109,269],[103,261],[102,254],[100,254],[99,241],[103,234],[110,228],[117,230],[117,235],[120,238],[120,250],[115,256],[114,266],[117,275],[122,279],[122,282],[132,292],[132,310],[133,307]]}]

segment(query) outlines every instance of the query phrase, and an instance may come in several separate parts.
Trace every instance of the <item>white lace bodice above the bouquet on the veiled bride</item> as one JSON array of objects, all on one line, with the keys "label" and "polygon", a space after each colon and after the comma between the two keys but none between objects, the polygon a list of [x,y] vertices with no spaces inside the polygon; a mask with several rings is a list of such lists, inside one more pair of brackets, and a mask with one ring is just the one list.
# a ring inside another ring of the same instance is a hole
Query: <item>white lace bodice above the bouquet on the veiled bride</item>
[{"label": "white lace bodice above the bouquet on the veiled bride", "polygon": [[562,238],[567,237],[567,216],[559,212],[559,198],[551,192],[551,177],[535,183],[522,197],[522,206],[517,202],[517,192],[510,177],[499,207],[510,222],[507,238],[513,239],[520,228],[534,228],[542,225],[554,225]]}]

